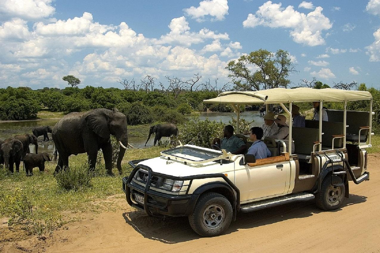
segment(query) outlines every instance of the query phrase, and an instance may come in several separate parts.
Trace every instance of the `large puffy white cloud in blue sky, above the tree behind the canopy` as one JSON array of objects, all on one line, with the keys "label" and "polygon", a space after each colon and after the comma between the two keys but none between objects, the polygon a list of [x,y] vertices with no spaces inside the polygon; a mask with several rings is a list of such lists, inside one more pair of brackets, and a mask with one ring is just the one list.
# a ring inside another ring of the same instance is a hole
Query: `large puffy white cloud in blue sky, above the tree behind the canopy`
[{"label": "large puffy white cloud in blue sky, above the tree behind the canopy", "polygon": [[296,43],[309,46],[323,45],[325,40],[322,32],[331,29],[332,23],[322,10],[323,8],[318,6],[306,15],[294,10],[292,5],[284,8],[282,3],[267,1],[255,14],[248,14],[247,19],[243,21],[243,27],[267,26],[290,29],[290,37]]}]

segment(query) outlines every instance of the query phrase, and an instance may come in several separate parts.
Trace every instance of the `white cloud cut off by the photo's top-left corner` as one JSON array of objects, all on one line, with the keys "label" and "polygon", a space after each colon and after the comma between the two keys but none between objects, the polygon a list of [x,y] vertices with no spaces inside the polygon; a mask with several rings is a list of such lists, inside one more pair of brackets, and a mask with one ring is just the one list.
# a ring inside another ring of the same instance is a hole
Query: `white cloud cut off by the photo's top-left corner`
[{"label": "white cloud cut off by the photo's top-left corner", "polygon": [[0,13],[26,20],[47,18],[55,12],[52,0],[1,0]]}]

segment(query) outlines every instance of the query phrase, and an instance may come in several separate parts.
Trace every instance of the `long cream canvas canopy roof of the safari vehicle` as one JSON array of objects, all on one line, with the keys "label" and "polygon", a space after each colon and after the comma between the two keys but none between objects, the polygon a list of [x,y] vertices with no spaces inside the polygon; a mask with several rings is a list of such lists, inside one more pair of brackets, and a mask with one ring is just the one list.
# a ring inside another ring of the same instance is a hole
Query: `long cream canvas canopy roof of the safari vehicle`
[{"label": "long cream canvas canopy roof of the safari vehicle", "polygon": [[345,102],[371,100],[368,91],[313,88],[273,88],[257,91],[226,91],[218,97],[203,100],[204,103],[222,104],[278,104],[289,102],[331,101]]}]

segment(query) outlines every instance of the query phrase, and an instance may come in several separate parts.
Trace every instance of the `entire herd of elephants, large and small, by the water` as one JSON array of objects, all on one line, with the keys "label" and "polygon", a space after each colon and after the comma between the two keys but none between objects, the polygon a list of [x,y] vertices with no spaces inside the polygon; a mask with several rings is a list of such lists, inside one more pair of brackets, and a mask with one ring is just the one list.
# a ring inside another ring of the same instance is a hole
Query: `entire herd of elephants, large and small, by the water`
[{"label": "entire herd of elephants, large and small, by the water", "polygon": [[[127,118],[117,109],[94,109],[87,112],[75,112],[65,115],[53,128],[49,126],[34,127],[32,133],[25,133],[0,140],[0,164],[5,165],[13,173],[13,165],[19,171],[21,161],[27,175],[33,175],[33,168],[38,167],[44,171],[45,162],[51,161],[47,153],[38,154],[37,138],[44,136],[44,141],[49,140],[47,133],[51,133],[54,145],[54,160],[58,157],[55,172],[68,168],[69,156],[87,153],[90,171],[95,169],[97,151],[102,150],[107,174],[112,173],[112,145],[110,135],[116,137],[120,144],[120,151],[116,167],[121,174],[121,161],[123,160],[128,143]],[[158,124],[149,128],[150,135],[155,134],[154,145],[161,137],[169,137],[178,134],[178,128],[174,124]],[[36,146],[36,154],[30,152],[29,145]]]}]

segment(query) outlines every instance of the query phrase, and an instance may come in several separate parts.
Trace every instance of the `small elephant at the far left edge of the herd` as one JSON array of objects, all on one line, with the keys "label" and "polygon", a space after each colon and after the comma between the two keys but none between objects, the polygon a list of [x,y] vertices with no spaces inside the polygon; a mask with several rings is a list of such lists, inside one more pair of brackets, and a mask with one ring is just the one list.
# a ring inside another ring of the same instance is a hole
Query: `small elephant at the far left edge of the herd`
[{"label": "small elephant at the far left edge of the herd", "polygon": [[15,164],[16,172],[18,172],[23,151],[24,147],[21,141],[15,138],[5,139],[0,149],[0,160],[4,161],[5,169],[9,169],[13,173],[13,164]]}]

